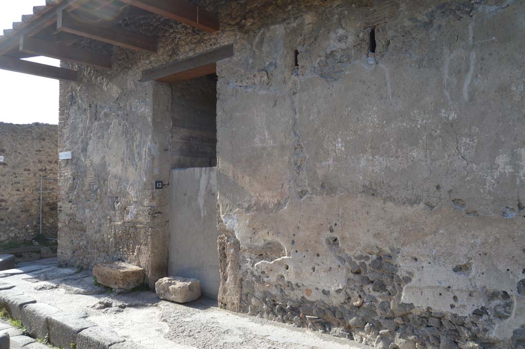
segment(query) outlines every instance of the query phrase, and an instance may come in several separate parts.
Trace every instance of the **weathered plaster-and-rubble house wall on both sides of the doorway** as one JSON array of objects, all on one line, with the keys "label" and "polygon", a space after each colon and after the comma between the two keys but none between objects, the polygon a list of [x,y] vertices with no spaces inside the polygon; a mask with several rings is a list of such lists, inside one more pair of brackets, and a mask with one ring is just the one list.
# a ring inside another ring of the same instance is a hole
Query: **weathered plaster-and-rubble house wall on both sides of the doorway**
[{"label": "weathered plaster-and-rubble house wall on both sides of the doorway", "polygon": [[233,43],[217,67],[219,305],[378,348],[523,347],[525,3],[215,9],[219,34],[124,20],[159,54],[117,48],[111,72],[61,84],[61,263],[162,274],[172,91],[140,71]]}]

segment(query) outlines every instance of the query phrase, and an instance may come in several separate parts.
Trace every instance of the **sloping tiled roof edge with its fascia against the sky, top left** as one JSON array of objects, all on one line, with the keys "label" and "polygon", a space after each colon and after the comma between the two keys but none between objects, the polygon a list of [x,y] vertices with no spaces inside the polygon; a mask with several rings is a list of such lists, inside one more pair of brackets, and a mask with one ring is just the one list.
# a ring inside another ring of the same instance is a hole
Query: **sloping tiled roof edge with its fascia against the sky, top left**
[{"label": "sloping tiled roof edge with its fascia against the sky, top left", "polygon": [[[61,0],[58,2],[49,2],[50,4],[57,4],[56,6],[50,6],[45,9],[42,9],[39,13],[39,16],[34,16],[29,19],[23,26],[16,31],[16,33],[9,32],[9,36],[0,41],[0,55],[7,53],[9,50],[12,50],[15,47],[18,47],[20,38],[24,35],[35,35],[39,33],[42,29],[53,24],[57,20],[57,11],[62,10],[74,10],[81,5],[85,4],[89,0]],[[47,2],[46,2],[47,3]]]}]

